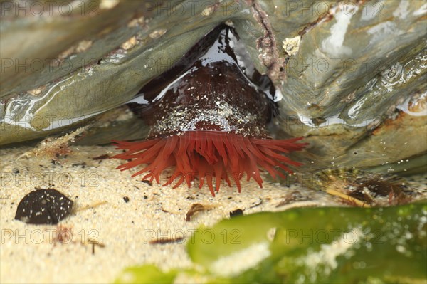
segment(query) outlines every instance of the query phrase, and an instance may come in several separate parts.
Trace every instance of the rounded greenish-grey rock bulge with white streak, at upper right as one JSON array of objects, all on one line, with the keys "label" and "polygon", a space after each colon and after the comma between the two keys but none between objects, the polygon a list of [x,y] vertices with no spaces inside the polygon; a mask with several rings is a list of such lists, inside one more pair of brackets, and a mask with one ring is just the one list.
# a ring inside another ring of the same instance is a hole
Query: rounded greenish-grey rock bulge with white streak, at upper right
[{"label": "rounded greenish-grey rock bulge with white streak, at upper right", "polygon": [[[333,19],[302,36],[300,51],[286,67],[284,105],[306,117],[327,118],[339,114],[348,104],[359,105],[357,99],[362,92],[354,94],[351,102],[343,99],[396,61],[415,58],[420,44],[426,48],[423,1],[343,5],[342,10],[337,6]],[[426,68],[425,64],[421,66]],[[369,115],[382,115],[386,110],[381,105],[369,105]],[[360,117],[355,118],[363,121],[366,112],[359,113]]]}]

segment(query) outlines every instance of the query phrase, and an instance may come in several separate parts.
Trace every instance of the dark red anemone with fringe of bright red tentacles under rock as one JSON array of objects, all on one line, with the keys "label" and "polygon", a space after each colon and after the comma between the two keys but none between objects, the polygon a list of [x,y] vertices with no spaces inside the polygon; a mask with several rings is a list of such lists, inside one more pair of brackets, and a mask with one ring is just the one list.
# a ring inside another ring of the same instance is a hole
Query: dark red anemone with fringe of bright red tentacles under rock
[{"label": "dark red anemone with fringe of bright red tentacles under rock", "polygon": [[[130,102],[151,128],[142,142],[114,141],[125,150],[112,158],[126,159],[117,169],[142,166],[132,177],[160,183],[160,174],[174,172],[163,186],[199,180],[215,196],[231,178],[241,192],[244,174],[262,187],[261,169],[273,178],[299,166],[284,154],[300,151],[302,137],[274,140],[266,126],[277,111],[273,84],[255,70],[232,28],[221,25],[207,34],[166,73],[153,79]],[[215,190],[214,190],[215,180]]]}]

